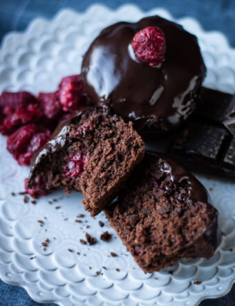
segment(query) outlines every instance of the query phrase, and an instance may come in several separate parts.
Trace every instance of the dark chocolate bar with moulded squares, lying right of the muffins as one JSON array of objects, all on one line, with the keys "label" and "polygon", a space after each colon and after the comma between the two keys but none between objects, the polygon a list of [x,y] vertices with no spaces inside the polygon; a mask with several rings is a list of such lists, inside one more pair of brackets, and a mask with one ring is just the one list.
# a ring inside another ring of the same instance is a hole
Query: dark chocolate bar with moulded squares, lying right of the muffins
[{"label": "dark chocolate bar with moulded squares, lying right of the muffins", "polygon": [[235,98],[203,88],[201,102],[178,134],[171,154],[189,170],[235,178],[235,138],[230,133],[235,123],[229,125],[232,118],[235,121]]}]

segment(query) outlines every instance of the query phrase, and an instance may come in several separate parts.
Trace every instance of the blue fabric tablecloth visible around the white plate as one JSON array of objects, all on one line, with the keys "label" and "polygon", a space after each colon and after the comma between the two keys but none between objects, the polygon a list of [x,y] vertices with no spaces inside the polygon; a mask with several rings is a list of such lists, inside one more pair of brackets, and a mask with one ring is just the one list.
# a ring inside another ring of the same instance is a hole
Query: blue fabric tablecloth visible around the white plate
[{"label": "blue fabric tablecloth visible around the white plate", "polygon": [[[220,30],[227,35],[235,47],[235,0],[0,0],[0,42],[6,33],[12,30],[25,30],[35,17],[53,17],[62,8],[74,8],[84,11],[92,3],[104,3],[110,8],[132,2],[144,10],[155,7],[166,8],[174,17],[186,15],[195,17],[205,30]],[[0,280],[0,305],[31,306],[42,305],[34,302],[20,287],[6,285]],[[45,304],[44,304],[45,305]],[[53,306],[55,304],[47,304]],[[235,305],[235,287],[223,298],[204,300],[200,306]]]}]

